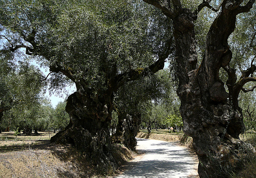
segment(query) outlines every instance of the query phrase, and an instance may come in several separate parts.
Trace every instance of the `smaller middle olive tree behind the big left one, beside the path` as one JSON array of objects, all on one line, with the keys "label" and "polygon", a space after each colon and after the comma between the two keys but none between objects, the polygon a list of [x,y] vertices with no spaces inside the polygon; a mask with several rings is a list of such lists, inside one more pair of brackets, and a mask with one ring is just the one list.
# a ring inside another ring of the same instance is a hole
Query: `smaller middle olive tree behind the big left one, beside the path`
[{"label": "smaller middle olive tree behind the big left one, beside the path", "polygon": [[114,98],[118,124],[116,133],[111,137],[113,142],[122,143],[127,148],[134,149],[141,117],[147,109],[146,103],[149,100],[158,102],[163,99],[170,88],[170,80],[168,70],[164,69],[120,87]]}]

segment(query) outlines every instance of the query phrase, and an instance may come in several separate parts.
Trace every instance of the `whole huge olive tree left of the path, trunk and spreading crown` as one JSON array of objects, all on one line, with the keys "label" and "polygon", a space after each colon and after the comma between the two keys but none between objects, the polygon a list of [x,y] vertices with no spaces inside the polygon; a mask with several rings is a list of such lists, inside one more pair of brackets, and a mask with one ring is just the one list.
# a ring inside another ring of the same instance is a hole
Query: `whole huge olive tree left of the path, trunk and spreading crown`
[{"label": "whole huge olive tree left of the path, trunk and spreading crown", "polygon": [[169,55],[171,35],[151,32],[151,7],[132,0],[1,0],[0,7],[10,51],[24,48],[49,67],[53,84],[64,75],[76,85],[66,105],[70,122],[51,141],[74,145],[104,172],[115,168],[114,92],[163,69]]}]

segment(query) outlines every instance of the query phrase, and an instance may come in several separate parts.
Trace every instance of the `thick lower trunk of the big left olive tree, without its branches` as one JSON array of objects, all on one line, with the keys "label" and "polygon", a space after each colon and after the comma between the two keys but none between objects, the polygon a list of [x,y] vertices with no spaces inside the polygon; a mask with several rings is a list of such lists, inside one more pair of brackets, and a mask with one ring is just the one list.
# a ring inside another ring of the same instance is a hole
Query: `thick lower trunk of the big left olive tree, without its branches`
[{"label": "thick lower trunk of the big left olive tree, without its branches", "polygon": [[69,143],[97,164],[100,172],[116,168],[111,153],[110,122],[113,95],[100,98],[90,92],[76,91],[67,99],[68,126],[51,138],[51,142]]}]

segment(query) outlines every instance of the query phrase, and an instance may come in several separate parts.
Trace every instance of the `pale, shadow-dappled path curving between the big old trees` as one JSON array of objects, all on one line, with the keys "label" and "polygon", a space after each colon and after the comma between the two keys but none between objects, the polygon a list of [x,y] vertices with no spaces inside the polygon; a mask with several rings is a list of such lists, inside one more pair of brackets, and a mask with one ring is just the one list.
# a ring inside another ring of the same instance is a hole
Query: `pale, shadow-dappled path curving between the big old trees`
[{"label": "pale, shadow-dappled path curving between the big old trees", "polygon": [[137,138],[136,149],[144,153],[114,178],[197,178],[198,161],[177,142]]}]

